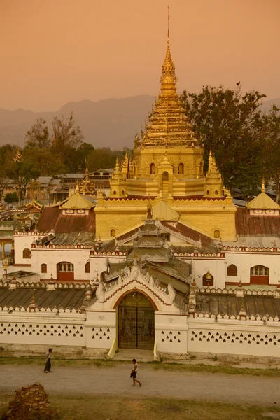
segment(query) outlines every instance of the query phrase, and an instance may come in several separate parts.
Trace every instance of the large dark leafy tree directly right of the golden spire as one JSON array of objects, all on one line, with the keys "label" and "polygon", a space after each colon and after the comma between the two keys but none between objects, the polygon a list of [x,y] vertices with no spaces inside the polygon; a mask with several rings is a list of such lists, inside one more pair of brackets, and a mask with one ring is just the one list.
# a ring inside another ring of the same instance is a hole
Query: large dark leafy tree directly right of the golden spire
[{"label": "large dark leafy tree directly right of the golden spire", "polygon": [[235,90],[203,86],[199,94],[183,92],[186,115],[204,146],[204,170],[211,149],[227,187],[260,185],[263,97],[258,91],[242,95],[240,83]]}]

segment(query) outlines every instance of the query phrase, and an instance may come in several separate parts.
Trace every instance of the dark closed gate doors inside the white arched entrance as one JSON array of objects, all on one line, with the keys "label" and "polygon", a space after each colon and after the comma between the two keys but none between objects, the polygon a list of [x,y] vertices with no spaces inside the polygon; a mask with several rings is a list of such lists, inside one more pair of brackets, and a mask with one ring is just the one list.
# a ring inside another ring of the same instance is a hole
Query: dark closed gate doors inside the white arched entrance
[{"label": "dark closed gate doors inside the white arched entrance", "polygon": [[155,309],[142,293],[127,294],[118,305],[118,347],[153,349]]}]

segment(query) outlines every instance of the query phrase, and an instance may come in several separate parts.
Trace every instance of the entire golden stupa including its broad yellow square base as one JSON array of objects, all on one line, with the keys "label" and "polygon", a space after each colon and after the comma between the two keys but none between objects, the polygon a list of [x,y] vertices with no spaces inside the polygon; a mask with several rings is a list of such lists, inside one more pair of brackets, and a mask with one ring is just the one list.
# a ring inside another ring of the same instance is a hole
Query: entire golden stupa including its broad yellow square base
[{"label": "entire golden stupa including its broad yellow square base", "polygon": [[[160,94],[148,123],[134,139],[133,158],[125,155],[123,162],[116,162],[109,197],[99,195],[97,201],[96,234],[103,240],[110,239],[111,232],[118,237],[139,228],[147,207],[152,207],[152,214],[155,207],[159,220],[168,214],[169,221],[180,218],[180,223],[211,237],[236,239],[232,197],[223,188],[211,153],[204,176],[203,149],[176,90],[169,31]],[[158,205],[161,201],[165,205]]]}]

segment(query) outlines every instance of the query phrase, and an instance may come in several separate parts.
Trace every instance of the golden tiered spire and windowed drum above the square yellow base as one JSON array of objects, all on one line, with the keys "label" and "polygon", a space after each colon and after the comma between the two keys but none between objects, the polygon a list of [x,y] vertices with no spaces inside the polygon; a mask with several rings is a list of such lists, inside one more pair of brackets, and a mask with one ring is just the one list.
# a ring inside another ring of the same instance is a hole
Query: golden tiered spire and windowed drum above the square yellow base
[{"label": "golden tiered spire and windowed drum above the square yellow base", "polygon": [[156,197],[162,190],[164,198],[169,194],[203,195],[203,150],[176,91],[169,36],[160,91],[145,132],[134,140],[133,176],[127,181],[127,194]]}]

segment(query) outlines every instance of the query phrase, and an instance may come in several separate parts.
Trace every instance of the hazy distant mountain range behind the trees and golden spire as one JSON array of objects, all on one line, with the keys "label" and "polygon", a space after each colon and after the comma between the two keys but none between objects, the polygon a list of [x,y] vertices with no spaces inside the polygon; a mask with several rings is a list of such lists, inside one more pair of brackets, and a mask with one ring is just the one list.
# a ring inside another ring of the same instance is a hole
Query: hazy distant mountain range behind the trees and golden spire
[{"label": "hazy distant mountain range behind the trees and golden spire", "polygon": [[[0,146],[24,146],[25,134],[36,122],[36,118],[44,118],[50,126],[54,116],[68,117],[73,111],[75,121],[85,136],[85,142],[95,148],[132,148],[135,134],[140,133],[141,125],[148,119],[148,111],[151,111],[154,102],[155,97],[141,95],[97,102],[68,102],[55,112],[35,113],[25,109],[0,109]],[[263,111],[269,111],[273,104],[280,108],[280,98],[264,102]]]}]

